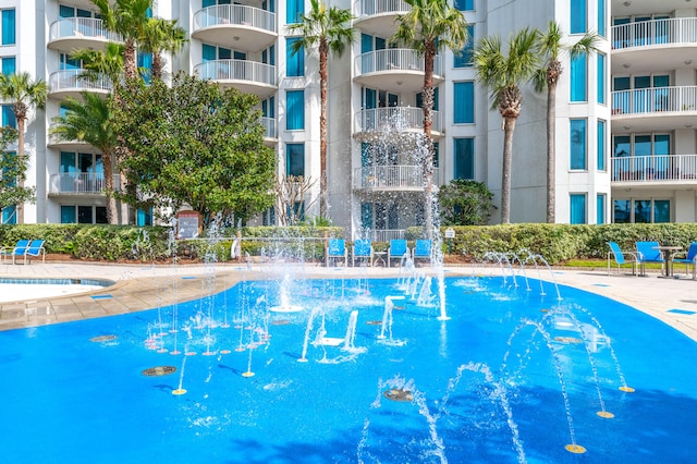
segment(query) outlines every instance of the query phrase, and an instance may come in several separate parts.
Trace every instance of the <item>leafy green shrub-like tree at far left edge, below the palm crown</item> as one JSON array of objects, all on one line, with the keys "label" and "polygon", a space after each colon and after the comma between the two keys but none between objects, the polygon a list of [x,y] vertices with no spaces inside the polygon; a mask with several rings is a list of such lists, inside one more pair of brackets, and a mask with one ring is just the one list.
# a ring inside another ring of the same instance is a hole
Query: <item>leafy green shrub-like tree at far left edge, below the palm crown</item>
[{"label": "leafy green shrub-like tree at far left edge, below the palm crown", "polygon": [[9,206],[36,202],[36,191],[22,186],[26,180],[26,157],[7,152],[7,147],[17,141],[14,127],[0,127],[0,211]]}]

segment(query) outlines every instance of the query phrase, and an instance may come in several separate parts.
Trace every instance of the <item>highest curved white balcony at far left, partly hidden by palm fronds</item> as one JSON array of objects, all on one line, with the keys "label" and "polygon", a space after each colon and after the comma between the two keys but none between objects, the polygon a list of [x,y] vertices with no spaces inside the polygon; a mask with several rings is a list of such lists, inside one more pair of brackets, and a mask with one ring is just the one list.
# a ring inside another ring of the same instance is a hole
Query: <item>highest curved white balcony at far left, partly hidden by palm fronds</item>
[{"label": "highest curved white balcony at far left, partly hidden by palm fronds", "polygon": [[121,36],[111,33],[95,17],[63,17],[51,23],[48,47],[64,53],[89,48],[102,50],[109,41],[123,41]]}]

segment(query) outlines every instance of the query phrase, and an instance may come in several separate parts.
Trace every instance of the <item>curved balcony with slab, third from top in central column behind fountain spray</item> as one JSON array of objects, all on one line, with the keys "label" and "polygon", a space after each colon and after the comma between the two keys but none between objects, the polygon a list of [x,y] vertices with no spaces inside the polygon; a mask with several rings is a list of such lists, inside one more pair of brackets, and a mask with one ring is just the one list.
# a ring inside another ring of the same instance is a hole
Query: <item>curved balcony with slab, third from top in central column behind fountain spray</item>
[{"label": "curved balcony with slab, third from top in central column behind fountain spray", "polygon": [[[431,136],[443,136],[443,118],[438,111],[433,111]],[[358,111],[355,115],[354,131],[359,142],[384,142],[390,134],[395,139],[404,136],[404,133],[424,132],[424,111],[414,107],[387,107],[372,108]]]}]

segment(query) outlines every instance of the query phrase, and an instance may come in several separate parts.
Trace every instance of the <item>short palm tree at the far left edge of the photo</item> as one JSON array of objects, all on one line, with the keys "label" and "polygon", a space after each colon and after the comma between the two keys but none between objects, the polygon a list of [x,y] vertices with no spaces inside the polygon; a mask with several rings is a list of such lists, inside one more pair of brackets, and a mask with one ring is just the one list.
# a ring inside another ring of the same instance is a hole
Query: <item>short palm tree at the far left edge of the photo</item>
[{"label": "short palm tree at the far left edge of the photo", "polygon": [[[0,97],[12,102],[12,111],[17,121],[17,157],[24,159],[24,127],[32,107],[42,110],[46,106],[48,86],[46,82],[32,81],[29,73],[0,75]],[[24,182],[20,181],[19,187]],[[17,222],[24,222],[24,205],[17,205]]]}]

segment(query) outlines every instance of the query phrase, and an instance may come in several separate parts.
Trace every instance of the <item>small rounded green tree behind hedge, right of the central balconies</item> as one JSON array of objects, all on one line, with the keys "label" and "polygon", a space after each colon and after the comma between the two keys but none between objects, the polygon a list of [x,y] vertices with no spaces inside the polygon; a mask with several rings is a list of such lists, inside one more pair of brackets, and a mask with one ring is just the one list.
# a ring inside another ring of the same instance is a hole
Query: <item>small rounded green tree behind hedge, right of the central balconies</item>
[{"label": "small rounded green tree behind hedge, right of the central balconies", "polygon": [[493,194],[484,182],[454,179],[438,191],[443,225],[482,225],[489,221]]}]

